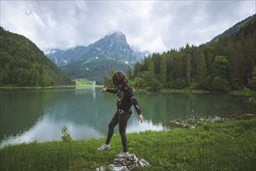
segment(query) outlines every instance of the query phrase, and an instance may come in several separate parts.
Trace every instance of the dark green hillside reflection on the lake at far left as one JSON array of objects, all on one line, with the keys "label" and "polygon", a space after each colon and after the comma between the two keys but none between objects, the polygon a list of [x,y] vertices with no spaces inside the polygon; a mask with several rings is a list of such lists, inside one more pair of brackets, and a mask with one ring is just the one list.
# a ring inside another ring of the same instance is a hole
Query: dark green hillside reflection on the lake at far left
[{"label": "dark green hillside reflection on the lake at far left", "polygon": [[[18,134],[33,126],[44,110],[54,106],[50,90],[0,90],[1,138]],[[63,95],[62,95],[63,96]]]}]

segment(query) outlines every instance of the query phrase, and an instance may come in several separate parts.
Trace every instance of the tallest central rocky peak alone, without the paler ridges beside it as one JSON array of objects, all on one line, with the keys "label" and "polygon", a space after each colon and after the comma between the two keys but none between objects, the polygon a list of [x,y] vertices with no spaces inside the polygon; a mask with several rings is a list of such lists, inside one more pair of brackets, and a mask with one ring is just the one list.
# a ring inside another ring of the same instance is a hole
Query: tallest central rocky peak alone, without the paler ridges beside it
[{"label": "tallest central rocky peak alone, without the paler ridges beside it", "polygon": [[86,47],[86,52],[61,69],[72,79],[82,78],[103,82],[103,73],[111,73],[111,69],[126,72],[128,65],[135,65],[136,58],[121,32],[108,34],[106,37]]}]

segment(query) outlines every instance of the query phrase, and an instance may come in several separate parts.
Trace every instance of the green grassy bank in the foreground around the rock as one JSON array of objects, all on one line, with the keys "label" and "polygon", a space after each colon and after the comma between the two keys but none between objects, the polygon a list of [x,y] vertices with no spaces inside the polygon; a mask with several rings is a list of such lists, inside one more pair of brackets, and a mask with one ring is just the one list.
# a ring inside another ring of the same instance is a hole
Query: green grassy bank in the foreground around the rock
[{"label": "green grassy bank in the foreground around the rock", "polygon": [[[103,141],[7,146],[0,149],[0,170],[95,170],[112,163],[121,151],[119,135],[114,135],[110,150],[97,151]],[[128,150],[153,165],[136,170],[255,170],[256,118],[128,134]]]}]

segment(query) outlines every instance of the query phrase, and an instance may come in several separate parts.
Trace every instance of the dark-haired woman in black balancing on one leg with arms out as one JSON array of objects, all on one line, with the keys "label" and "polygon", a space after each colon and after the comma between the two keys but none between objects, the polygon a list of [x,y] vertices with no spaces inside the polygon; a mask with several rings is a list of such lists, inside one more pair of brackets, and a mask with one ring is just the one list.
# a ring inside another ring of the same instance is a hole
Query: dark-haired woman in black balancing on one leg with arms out
[{"label": "dark-haired woman in black balancing on one leg with arms out", "polygon": [[119,124],[119,134],[121,135],[121,141],[123,145],[123,152],[119,156],[128,156],[127,138],[126,138],[126,126],[128,119],[131,117],[131,106],[135,106],[135,110],[139,115],[139,120],[143,122],[142,112],[139,108],[139,103],[135,98],[132,87],[128,84],[128,79],[124,75],[124,72],[117,71],[113,75],[113,89],[101,89],[101,92],[117,93],[117,112],[114,113],[114,117],[108,124],[107,140],[98,150],[110,149],[110,140],[114,134],[114,127]]}]

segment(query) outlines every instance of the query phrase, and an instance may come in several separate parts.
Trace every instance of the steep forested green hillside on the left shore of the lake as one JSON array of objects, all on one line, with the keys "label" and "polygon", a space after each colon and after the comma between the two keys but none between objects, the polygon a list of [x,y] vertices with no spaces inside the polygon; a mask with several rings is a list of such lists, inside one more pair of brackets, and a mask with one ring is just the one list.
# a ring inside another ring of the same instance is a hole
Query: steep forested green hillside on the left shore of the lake
[{"label": "steep forested green hillside on the left shore of the lake", "polygon": [[68,78],[30,40],[0,27],[0,86],[64,86]]}]

